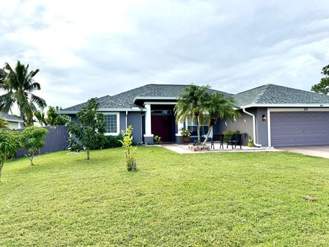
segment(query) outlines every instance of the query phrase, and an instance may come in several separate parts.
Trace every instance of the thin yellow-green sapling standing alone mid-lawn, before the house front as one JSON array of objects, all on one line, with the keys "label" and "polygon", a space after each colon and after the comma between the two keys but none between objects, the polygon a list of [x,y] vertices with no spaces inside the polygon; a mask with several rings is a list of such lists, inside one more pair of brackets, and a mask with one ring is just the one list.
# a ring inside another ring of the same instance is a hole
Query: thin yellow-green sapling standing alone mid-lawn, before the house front
[{"label": "thin yellow-green sapling standing alone mid-lawn, before the house front", "polygon": [[127,165],[127,171],[136,171],[137,161],[134,154],[136,154],[137,148],[132,145],[132,126],[127,128],[127,132],[121,131],[121,136],[123,141],[119,141],[122,143],[123,148],[125,148],[125,162]]}]

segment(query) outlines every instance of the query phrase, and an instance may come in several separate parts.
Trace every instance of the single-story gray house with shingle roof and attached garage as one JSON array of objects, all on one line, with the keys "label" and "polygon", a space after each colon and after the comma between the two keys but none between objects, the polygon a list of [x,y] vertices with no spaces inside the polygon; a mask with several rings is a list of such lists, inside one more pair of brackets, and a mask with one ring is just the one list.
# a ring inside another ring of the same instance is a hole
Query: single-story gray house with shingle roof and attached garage
[{"label": "single-story gray house with shingle roof and attached garage", "polygon": [[[186,119],[176,124],[173,113],[176,97],[188,86],[147,84],[98,98],[106,133],[119,135],[132,125],[137,143],[153,143],[154,135],[162,137],[163,142],[182,143],[179,129],[184,127],[190,128],[192,138],[196,138],[195,121]],[[237,94],[209,90],[233,97],[241,111],[239,119],[218,121],[210,137],[224,130],[240,130],[253,137],[256,146],[329,145],[329,96],[273,84]],[[77,112],[86,104],[63,109],[60,114],[77,121]],[[205,135],[208,126],[201,129]]]}]

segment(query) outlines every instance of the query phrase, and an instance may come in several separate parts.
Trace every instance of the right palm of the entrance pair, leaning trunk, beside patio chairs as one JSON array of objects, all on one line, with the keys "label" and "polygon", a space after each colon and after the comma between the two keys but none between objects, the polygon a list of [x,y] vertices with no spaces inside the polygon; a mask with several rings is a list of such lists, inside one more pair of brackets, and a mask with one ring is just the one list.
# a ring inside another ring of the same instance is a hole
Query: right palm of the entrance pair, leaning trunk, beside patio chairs
[{"label": "right palm of the entrance pair, leaning trunk, beside patio chairs", "polygon": [[212,93],[208,96],[208,100],[204,104],[206,118],[208,119],[208,133],[204,143],[202,143],[203,145],[208,141],[212,126],[215,126],[218,119],[233,120],[240,116],[239,111],[234,110],[234,108],[238,107],[232,98],[226,99],[220,93]]}]

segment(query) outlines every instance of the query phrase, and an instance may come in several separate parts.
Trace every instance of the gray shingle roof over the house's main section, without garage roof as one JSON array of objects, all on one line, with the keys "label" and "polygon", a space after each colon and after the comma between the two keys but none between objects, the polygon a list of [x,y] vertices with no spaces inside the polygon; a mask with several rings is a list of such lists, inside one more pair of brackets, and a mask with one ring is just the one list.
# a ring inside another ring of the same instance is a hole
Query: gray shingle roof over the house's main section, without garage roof
[{"label": "gray shingle roof over the house's main section, without garage roof", "polygon": [[[131,109],[131,108],[142,108],[135,104],[134,100],[136,98],[149,98],[149,99],[175,99],[180,93],[184,92],[184,89],[190,85],[175,85],[175,84],[147,84],[145,86],[140,86],[136,89],[130,91],[125,91],[117,95],[97,98],[99,103],[99,109]],[[223,94],[225,97],[232,97],[232,94],[217,91],[214,89],[209,89],[210,92],[217,92]],[[71,106],[60,110],[62,114],[69,114],[69,112],[75,112],[81,110],[82,107],[87,106],[87,102],[78,104],[76,106]]]}]

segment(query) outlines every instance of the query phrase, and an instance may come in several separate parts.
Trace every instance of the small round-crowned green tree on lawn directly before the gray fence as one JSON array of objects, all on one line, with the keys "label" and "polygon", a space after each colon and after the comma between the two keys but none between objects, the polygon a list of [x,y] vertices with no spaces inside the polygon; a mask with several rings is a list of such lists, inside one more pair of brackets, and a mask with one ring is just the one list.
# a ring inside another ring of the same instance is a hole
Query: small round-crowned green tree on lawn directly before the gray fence
[{"label": "small round-crowned green tree on lawn directly before the gray fence", "polygon": [[27,156],[31,165],[33,164],[34,154],[36,154],[45,145],[45,136],[48,130],[37,126],[29,126],[22,132],[23,148],[29,151],[30,156]]}]

